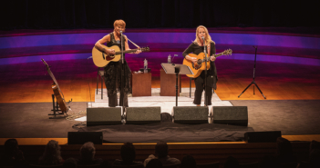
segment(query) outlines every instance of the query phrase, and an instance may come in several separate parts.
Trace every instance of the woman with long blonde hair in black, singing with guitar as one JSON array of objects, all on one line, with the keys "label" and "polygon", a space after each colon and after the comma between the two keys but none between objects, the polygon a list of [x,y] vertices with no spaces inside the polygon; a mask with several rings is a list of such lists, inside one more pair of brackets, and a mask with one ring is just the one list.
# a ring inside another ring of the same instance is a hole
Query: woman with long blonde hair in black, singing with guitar
[{"label": "woman with long blonde hair in black, singing with guitar", "polygon": [[[204,37],[204,41],[202,40],[202,37]],[[191,57],[189,54],[203,53],[204,47],[207,47],[208,57],[212,54],[215,54],[215,43],[212,41],[212,37],[209,35],[208,29],[205,26],[200,25],[197,27],[195,40],[189,45],[189,47],[186,50],[184,50],[183,56],[185,59],[193,63],[197,63],[197,58]],[[212,88],[217,89],[216,83],[218,82],[218,77],[214,61],[215,57],[212,56],[210,59],[210,69],[207,71],[207,84],[205,86],[205,93],[207,95],[208,102],[208,104],[204,104],[206,106],[212,104]],[[204,79],[205,71],[202,71],[201,74],[194,79],[196,89],[194,92],[193,104],[196,104],[197,106],[201,105],[201,95],[204,90],[205,84]]]}]

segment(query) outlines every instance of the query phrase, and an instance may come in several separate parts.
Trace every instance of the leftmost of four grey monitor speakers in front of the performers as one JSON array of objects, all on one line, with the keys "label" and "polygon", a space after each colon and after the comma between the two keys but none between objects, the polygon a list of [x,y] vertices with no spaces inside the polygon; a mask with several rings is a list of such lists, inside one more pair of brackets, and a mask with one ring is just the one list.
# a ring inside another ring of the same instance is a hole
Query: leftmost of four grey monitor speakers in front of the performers
[{"label": "leftmost of four grey monitor speakers in front of the performers", "polygon": [[121,107],[87,108],[87,125],[122,124]]}]

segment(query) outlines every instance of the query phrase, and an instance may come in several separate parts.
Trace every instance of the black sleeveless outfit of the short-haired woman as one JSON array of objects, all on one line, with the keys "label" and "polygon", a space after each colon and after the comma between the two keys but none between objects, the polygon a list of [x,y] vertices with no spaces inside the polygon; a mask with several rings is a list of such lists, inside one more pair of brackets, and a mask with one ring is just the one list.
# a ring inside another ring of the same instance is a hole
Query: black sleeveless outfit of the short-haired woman
[{"label": "black sleeveless outfit of the short-haired woman", "polygon": [[[107,46],[118,45],[121,48],[120,42],[115,40],[113,33],[110,35],[110,42],[108,42]],[[122,49],[125,50],[125,43],[122,42]],[[123,54],[125,58],[125,54]],[[105,66],[105,84],[108,90],[108,106],[115,107],[118,106],[118,98],[117,92],[120,92],[121,89],[121,68],[123,66],[124,73],[122,76],[123,79],[123,89],[124,94],[120,95],[120,104],[123,106],[128,107],[128,94],[131,93],[131,84],[130,84],[130,77],[131,71],[127,64],[126,59],[124,59],[124,64],[122,64],[122,60],[120,59],[119,62],[110,62],[107,66]]]}]

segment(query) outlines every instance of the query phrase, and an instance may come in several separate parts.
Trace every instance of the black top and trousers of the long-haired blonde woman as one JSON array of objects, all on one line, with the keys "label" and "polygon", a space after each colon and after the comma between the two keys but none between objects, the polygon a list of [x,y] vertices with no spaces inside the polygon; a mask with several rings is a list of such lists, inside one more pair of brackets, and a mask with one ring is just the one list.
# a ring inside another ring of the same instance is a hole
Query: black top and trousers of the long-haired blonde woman
[{"label": "black top and trousers of the long-haired blonde woman", "polygon": [[[215,54],[215,44],[213,42],[210,43],[210,54]],[[183,56],[186,57],[188,54],[200,54],[204,52],[204,46],[200,46],[197,42],[193,42],[189,45],[189,47],[184,50]],[[209,55],[208,55],[209,56]],[[201,96],[204,90],[204,79],[205,79],[205,71],[202,71],[201,74],[194,79],[194,83],[196,85],[196,90],[194,92],[194,101],[193,104],[201,104]],[[212,104],[212,88],[217,89],[216,83],[218,82],[217,69],[215,67],[214,62],[210,61],[210,69],[207,71],[207,84],[206,84],[206,94],[208,97],[208,104]]]}]

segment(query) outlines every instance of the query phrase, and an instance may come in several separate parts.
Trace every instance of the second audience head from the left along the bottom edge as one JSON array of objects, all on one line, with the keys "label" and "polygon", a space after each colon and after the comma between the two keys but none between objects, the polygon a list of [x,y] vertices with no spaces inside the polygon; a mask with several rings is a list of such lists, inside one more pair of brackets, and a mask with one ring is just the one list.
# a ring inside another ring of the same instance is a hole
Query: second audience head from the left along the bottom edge
[{"label": "second audience head from the left along the bottom edge", "polygon": [[49,141],[46,143],[46,149],[43,156],[40,158],[40,164],[47,164],[47,165],[57,165],[61,163],[61,153],[60,153],[60,146],[55,140]]}]

